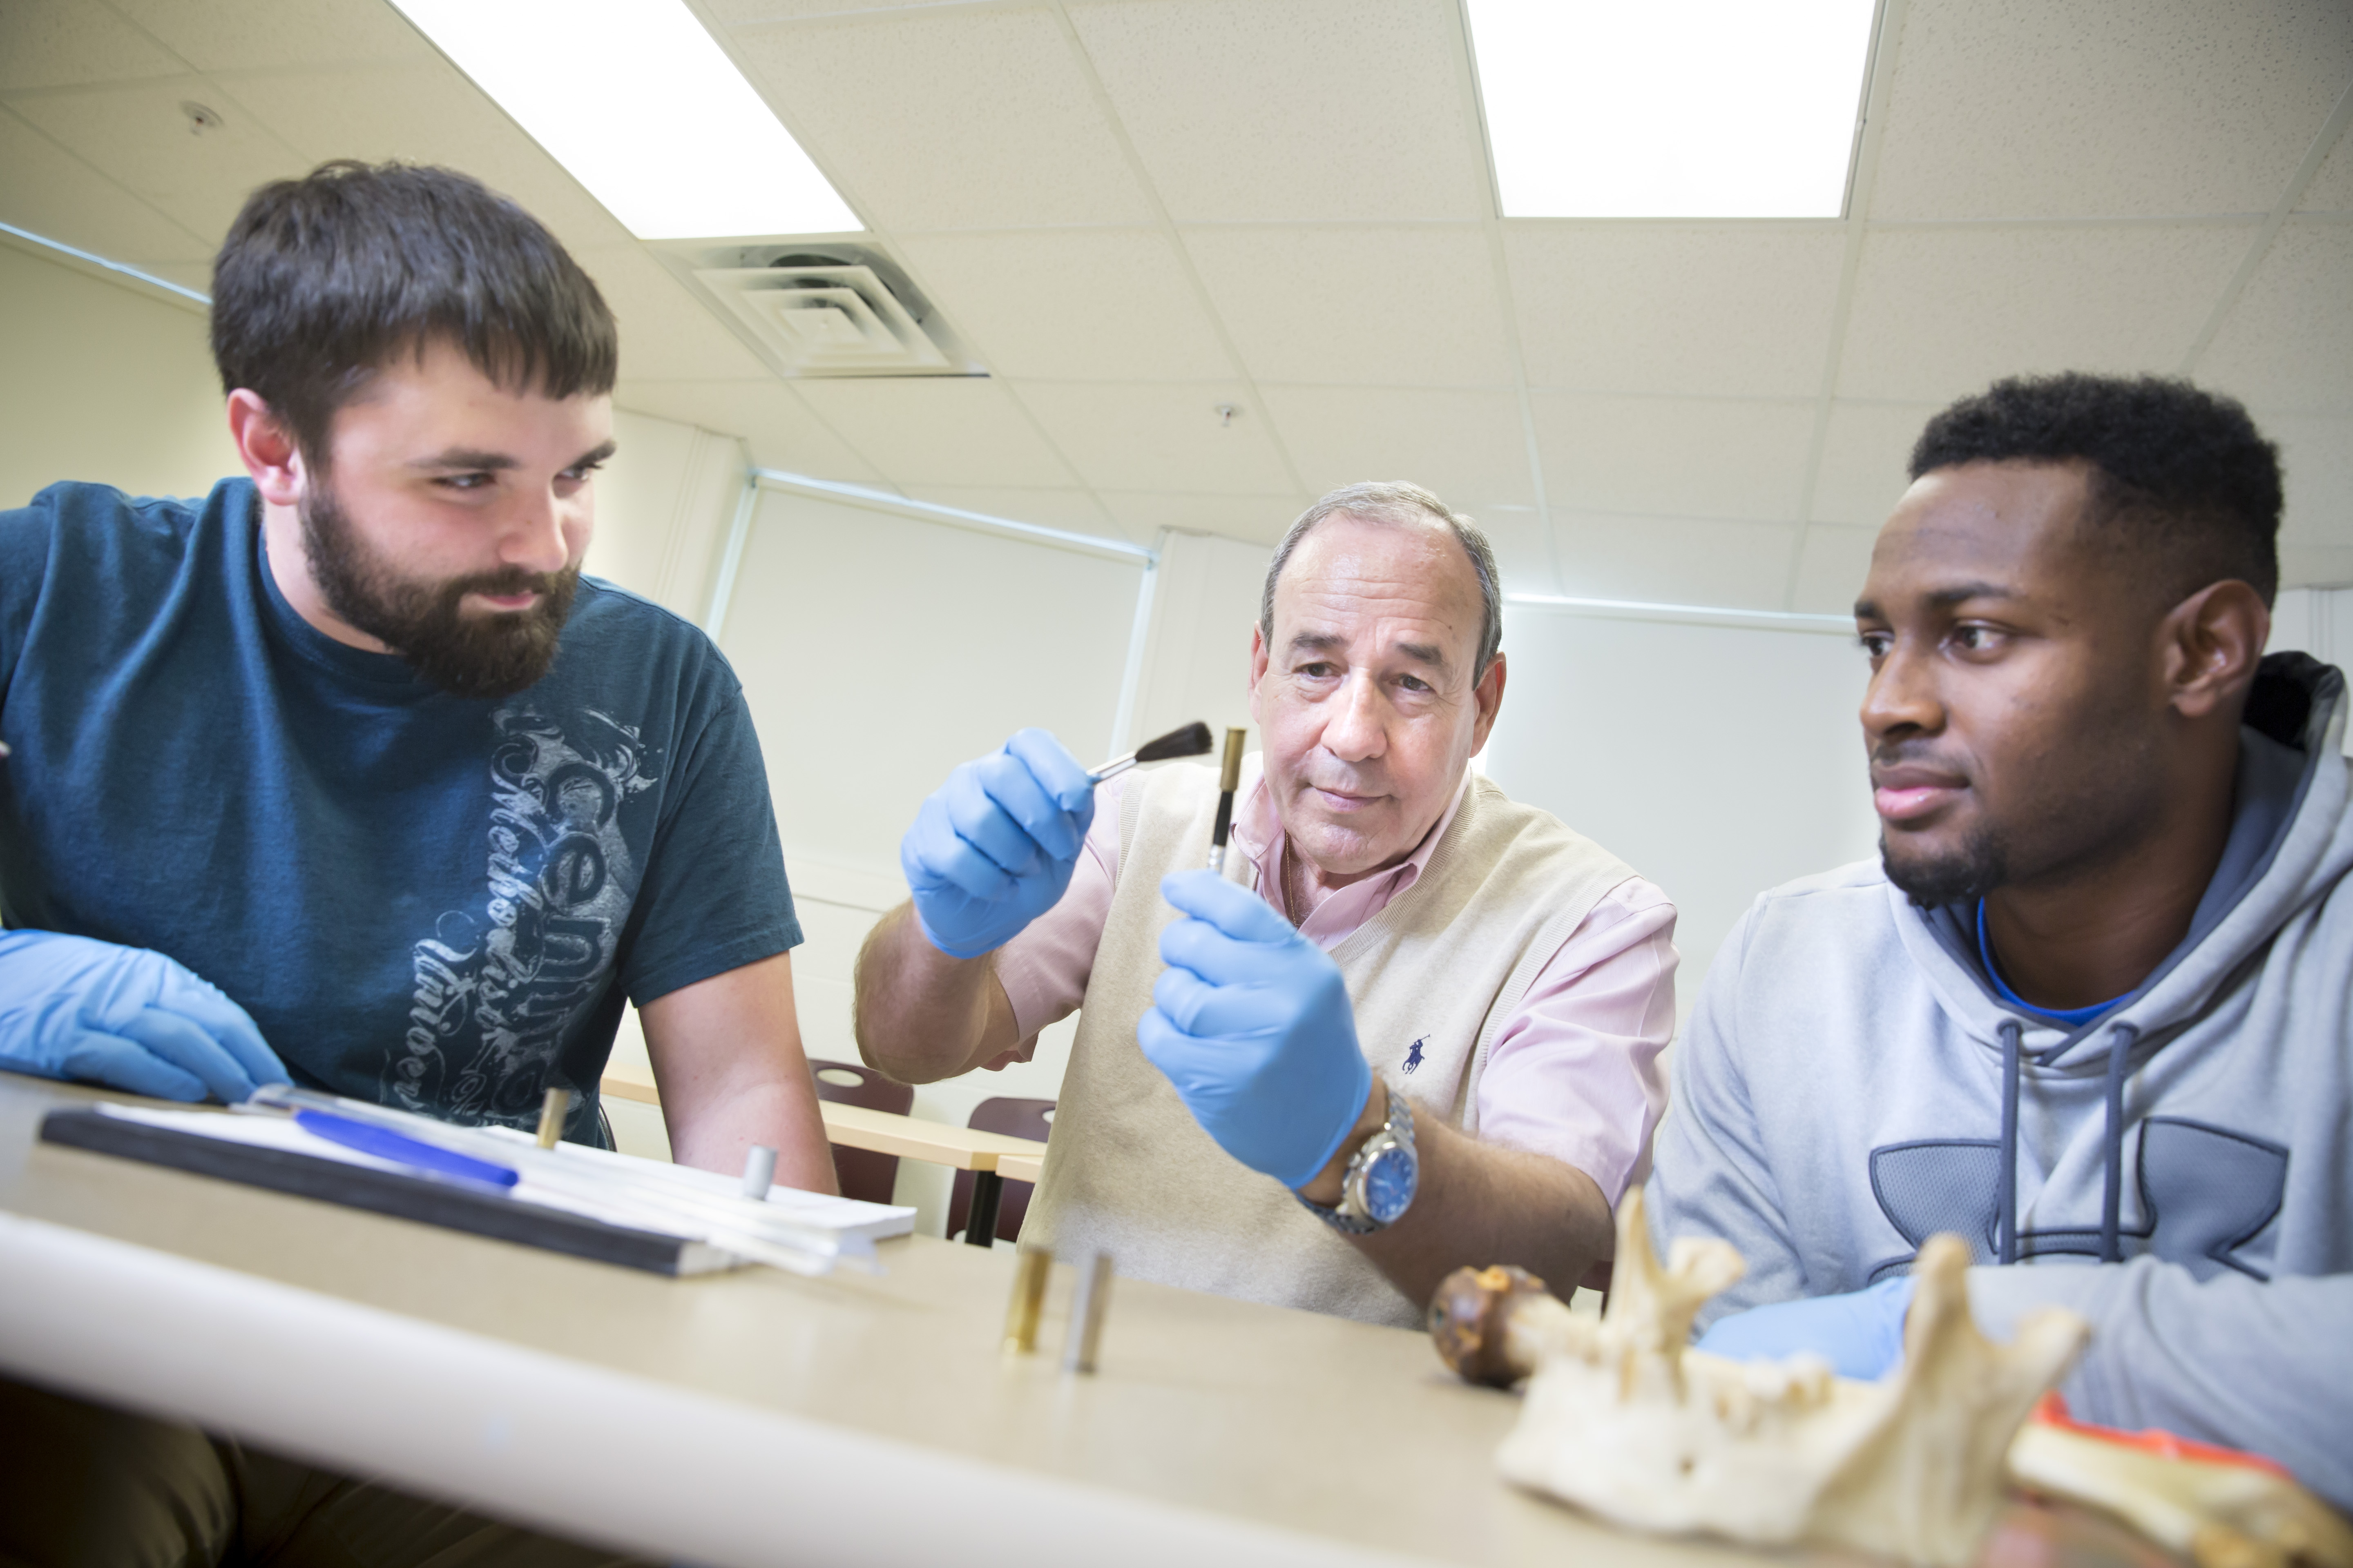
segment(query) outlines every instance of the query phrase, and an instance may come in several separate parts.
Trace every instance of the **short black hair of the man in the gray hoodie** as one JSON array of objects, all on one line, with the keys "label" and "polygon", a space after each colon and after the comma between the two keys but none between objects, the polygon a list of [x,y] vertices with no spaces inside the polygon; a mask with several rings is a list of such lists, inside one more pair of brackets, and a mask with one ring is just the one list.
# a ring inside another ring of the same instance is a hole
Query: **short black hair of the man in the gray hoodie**
[{"label": "short black hair of the man in the gray hoodie", "polygon": [[2009,376],[1927,421],[1911,477],[1960,463],[2092,465],[2111,529],[2167,604],[2238,578],[2280,590],[2280,449],[2245,404],[2167,376]]}]

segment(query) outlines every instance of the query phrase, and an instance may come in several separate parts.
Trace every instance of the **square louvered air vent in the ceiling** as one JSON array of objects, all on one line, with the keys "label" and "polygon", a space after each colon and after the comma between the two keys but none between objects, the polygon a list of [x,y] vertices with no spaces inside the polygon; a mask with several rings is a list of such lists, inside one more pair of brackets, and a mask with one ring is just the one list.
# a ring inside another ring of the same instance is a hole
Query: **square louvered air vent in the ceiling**
[{"label": "square louvered air vent in the ceiling", "polygon": [[664,261],[779,376],[988,374],[871,244],[732,244]]}]

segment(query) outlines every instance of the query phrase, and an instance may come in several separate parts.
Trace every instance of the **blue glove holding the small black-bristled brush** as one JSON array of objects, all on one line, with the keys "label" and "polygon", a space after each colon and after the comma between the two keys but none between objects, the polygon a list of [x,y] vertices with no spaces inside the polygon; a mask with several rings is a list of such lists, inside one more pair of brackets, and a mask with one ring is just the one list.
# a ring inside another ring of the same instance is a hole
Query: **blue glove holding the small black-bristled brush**
[{"label": "blue glove holding the small black-bristled brush", "polygon": [[951,959],[1014,940],[1071,886],[1092,820],[1094,780],[1042,729],[955,769],[899,839],[922,933]]}]

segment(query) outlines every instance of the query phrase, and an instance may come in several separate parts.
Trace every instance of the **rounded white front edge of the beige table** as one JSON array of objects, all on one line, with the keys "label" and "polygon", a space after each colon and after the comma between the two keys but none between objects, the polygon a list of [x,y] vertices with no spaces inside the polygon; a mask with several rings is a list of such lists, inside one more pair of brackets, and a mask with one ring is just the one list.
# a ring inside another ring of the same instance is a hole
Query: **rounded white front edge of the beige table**
[{"label": "rounded white front edge of the beige table", "polygon": [[741,1568],[1400,1561],[5,1211],[0,1279],[0,1366],[19,1378],[626,1552]]}]

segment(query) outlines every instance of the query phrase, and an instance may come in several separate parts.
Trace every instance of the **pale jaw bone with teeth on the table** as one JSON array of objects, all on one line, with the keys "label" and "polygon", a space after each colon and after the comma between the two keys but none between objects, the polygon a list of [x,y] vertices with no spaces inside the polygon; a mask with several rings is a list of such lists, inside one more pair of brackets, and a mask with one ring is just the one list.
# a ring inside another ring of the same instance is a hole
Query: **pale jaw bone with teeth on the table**
[{"label": "pale jaw bone with teeth on the table", "polygon": [[[1934,1568],[1977,1559],[2002,1507],[2002,1455],[2082,1347],[2080,1316],[2049,1307],[2009,1345],[1988,1342],[1969,1319],[1967,1244],[1934,1237],[1913,1265],[1904,1366],[1885,1380],[1835,1378],[1819,1356],[1725,1361],[1687,1340],[1701,1302],[1741,1276],[1739,1253],[1680,1239],[1661,1269],[1640,1190],[1617,1222],[1600,1321],[1539,1288],[1513,1293],[1501,1335],[1482,1335],[1457,1281],[1433,1302],[1457,1371],[1511,1382],[1534,1368],[1497,1453],[1511,1481],[1640,1530],[1847,1544]],[[1480,1284],[1508,1288],[1504,1274]]]}]

